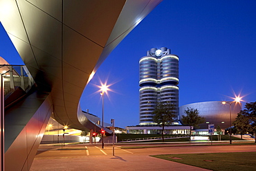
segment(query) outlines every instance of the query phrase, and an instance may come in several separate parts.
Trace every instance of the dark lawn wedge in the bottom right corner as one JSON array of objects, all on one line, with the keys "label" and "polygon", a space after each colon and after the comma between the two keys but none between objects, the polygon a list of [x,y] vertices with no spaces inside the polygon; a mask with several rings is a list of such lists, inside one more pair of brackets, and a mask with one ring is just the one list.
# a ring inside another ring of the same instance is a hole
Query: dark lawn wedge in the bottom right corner
[{"label": "dark lawn wedge in the bottom right corner", "polygon": [[163,154],[154,155],[159,159],[194,165],[214,171],[256,170],[256,152],[200,153],[200,154]]}]

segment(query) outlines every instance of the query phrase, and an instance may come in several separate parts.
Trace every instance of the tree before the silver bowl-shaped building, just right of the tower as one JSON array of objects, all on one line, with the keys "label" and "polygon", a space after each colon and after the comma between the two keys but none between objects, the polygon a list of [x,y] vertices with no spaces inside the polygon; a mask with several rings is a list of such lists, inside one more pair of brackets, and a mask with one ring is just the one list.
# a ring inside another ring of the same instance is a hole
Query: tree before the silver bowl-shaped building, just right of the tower
[{"label": "tree before the silver bowl-shaped building, just right of the tower", "polygon": [[183,115],[181,118],[181,122],[184,125],[190,126],[190,138],[191,138],[192,127],[199,127],[199,124],[205,123],[205,118],[199,116],[199,111],[191,107],[188,107],[184,111],[184,113],[187,114],[187,116]]}]

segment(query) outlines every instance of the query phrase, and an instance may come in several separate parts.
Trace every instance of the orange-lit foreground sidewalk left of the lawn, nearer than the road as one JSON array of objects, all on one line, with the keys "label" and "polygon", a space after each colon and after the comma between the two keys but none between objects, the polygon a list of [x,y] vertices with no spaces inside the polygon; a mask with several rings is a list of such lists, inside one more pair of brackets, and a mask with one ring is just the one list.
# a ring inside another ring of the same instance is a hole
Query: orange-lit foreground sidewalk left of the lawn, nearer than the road
[{"label": "orange-lit foreground sidewalk left of the lawn, nearer than the road", "polygon": [[[53,149],[52,149],[53,150]],[[111,150],[111,146],[104,150]],[[178,171],[203,171],[203,168],[196,168],[191,165],[184,165],[172,161],[157,159],[149,155],[95,155],[95,156],[69,156],[68,152],[64,157],[51,157],[40,159],[35,157],[31,171],[37,170],[178,170]]]}]

